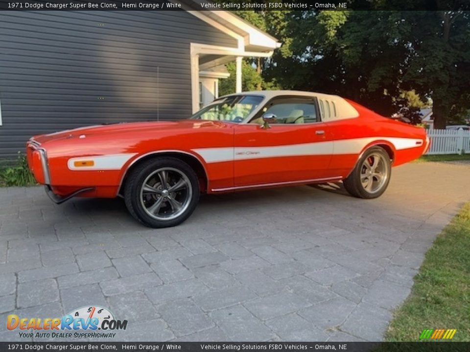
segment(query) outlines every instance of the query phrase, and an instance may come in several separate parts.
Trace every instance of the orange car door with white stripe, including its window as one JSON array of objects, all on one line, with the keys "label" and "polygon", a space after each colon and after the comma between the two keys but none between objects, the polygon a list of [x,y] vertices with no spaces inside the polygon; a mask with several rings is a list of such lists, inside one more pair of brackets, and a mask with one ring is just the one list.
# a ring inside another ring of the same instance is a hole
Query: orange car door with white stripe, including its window
[{"label": "orange car door with white stripe, including its window", "polygon": [[[269,128],[264,114],[275,115]],[[317,99],[302,96],[270,100],[250,123],[235,127],[234,146],[235,186],[322,178],[333,152]]]}]

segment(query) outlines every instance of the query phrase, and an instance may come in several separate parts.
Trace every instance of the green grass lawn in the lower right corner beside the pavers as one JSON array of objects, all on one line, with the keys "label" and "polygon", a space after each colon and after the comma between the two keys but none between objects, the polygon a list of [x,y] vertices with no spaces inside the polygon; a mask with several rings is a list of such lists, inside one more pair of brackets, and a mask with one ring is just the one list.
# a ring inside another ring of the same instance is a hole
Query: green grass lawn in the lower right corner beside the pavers
[{"label": "green grass lawn in the lower right corner beside the pavers", "polygon": [[418,341],[423,329],[457,329],[452,341],[470,341],[470,203],[426,253],[385,341]]}]

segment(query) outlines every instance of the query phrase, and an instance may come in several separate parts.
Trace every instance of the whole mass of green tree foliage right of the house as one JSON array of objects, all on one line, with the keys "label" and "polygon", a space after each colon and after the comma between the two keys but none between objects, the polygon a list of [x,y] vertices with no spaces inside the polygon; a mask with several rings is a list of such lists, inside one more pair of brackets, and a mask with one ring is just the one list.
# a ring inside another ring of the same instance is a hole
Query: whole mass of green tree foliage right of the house
[{"label": "whole mass of green tree foliage right of the house", "polygon": [[[465,114],[470,13],[383,11],[383,1],[363,3],[369,11],[237,11],[282,42],[272,58],[250,61],[262,82],[339,94],[386,116],[404,106],[417,111],[431,99],[438,128]],[[411,102],[404,92],[413,92]]]}]

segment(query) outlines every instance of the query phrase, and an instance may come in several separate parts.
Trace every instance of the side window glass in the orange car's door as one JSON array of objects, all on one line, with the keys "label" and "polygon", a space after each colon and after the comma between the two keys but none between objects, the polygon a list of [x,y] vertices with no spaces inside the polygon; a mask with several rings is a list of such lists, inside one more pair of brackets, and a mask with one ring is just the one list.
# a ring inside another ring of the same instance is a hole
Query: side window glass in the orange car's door
[{"label": "side window glass in the orange car's door", "polygon": [[270,107],[263,109],[263,114],[268,113],[276,115],[274,124],[305,124],[318,121],[313,101],[274,103]]}]

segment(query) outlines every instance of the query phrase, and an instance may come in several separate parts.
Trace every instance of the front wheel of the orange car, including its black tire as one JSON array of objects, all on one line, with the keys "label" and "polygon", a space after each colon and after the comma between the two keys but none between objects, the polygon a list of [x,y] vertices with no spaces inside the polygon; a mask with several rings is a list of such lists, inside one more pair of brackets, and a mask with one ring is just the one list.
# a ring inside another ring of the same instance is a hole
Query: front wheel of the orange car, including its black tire
[{"label": "front wheel of the orange car, including its black tire", "polygon": [[[171,187],[175,191],[171,192]],[[188,219],[199,193],[198,177],[187,163],[162,157],[142,162],[132,170],[125,183],[124,200],[135,219],[145,226],[162,228]]]}]

